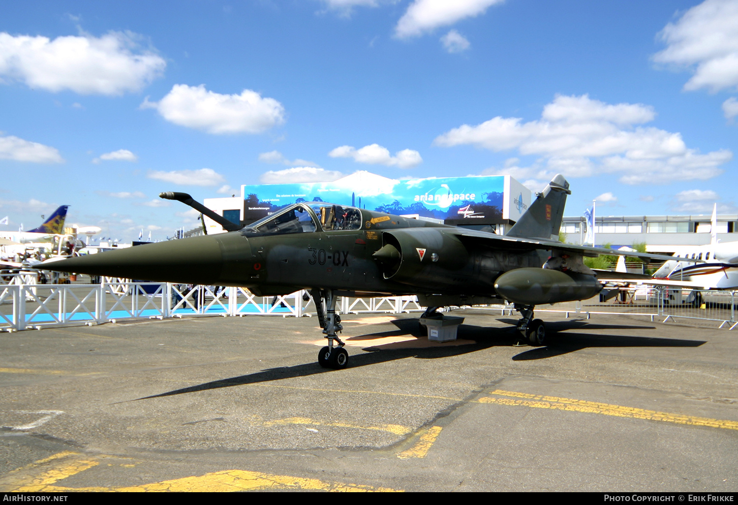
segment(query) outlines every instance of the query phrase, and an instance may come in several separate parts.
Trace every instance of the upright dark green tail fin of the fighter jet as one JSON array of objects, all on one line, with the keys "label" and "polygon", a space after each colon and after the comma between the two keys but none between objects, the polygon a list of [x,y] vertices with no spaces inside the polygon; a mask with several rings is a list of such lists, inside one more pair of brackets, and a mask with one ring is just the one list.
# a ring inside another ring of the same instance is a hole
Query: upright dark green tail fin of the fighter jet
[{"label": "upright dark green tail fin of the fighter jet", "polygon": [[570,195],[569,183],[557,174],[542,193],[507,233],[511,237],[559,240],[559,230],[564,217],[566,196]]}]

